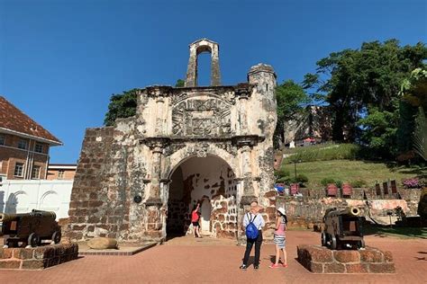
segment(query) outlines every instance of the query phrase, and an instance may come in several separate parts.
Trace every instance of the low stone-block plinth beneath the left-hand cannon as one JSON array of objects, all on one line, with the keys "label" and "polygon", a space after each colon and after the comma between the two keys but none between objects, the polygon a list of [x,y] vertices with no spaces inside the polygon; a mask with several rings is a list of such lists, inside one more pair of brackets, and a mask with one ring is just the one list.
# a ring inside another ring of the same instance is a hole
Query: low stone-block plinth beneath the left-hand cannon
[{"label": "low stone-block plinth beneath the left-hand cannon", "polygon": [[77,244],[52,244],[35,248],[0,248],[0,269],[42,270],[76,260]]}]

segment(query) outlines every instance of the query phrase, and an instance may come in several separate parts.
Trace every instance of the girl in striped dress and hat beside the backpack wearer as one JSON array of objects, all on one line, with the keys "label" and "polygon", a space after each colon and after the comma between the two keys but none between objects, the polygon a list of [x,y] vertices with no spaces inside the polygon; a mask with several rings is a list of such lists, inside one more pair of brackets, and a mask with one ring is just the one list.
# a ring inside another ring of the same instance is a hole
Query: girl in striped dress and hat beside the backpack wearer
[{"label": "girl in striped dress and hat beside the backpack wearer", "polygon": [[283,267],[287,267],[286,261],[286,223],[287,217],[285,213],[285,209],[279,208],[277,209],[277,217],[276,217],[276,231],[274,232],[274,244],[276,244],[276,262],[272,263],[270,268],[279,268],[282,265],[278,264],[280,260],[280,250],[283,252]]}]

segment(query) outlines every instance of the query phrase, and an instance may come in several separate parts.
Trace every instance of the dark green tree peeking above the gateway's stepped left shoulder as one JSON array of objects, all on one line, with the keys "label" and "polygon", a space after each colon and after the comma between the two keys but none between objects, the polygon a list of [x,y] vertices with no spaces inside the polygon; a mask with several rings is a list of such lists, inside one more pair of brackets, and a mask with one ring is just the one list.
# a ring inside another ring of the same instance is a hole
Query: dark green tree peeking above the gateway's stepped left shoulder
[{"label": "dark green tree peeking above the gateway's stepped left shoulder", "polygon": [[132,89],[119,94],[112,94],[104,125],[112,126],[118,118],[128,118],[136,114],[139,89]]}]

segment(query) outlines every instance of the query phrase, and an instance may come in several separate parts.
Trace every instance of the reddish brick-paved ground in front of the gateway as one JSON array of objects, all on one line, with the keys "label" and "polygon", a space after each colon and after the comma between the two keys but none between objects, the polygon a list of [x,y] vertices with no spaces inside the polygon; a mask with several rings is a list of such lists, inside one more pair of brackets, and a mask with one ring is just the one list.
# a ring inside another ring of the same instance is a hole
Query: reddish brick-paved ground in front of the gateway
[{"label": "reddish brick-paved ground in front of the gateway", "polygon": [[0,283],[425,283],[427,281],[427,240],[380,238],[369,235],[368,245],[392,251],[396,273],[387,275],[317,275],[295,261],[297,244],[319,244],[319,234],[289,231],[288,268],[268,268],[272,244],[261,251],[259,271],[250,266],[240,271],[244,247],[233,242],[204,238],[173,239],[133,256],[85,256],[45,271],[0,271]]}]

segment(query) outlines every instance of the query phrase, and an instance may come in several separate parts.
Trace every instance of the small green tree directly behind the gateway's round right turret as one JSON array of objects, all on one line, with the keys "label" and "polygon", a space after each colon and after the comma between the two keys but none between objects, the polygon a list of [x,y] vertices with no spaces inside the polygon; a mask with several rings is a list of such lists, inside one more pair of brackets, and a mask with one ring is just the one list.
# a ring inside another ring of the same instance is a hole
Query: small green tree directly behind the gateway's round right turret
[{"label": "small green tree directly behind the gateway's round right turret", "polygon": [[[293,80],[287,80],[283,84],[277,85],[277,126],[275,131],[275,146],[285,142],[285,124],[289,120],[295,119],[295,114],[304,111],[304,104],[310,102],[300,84]],[[280,142],[280,143],[277,143]]]}]

